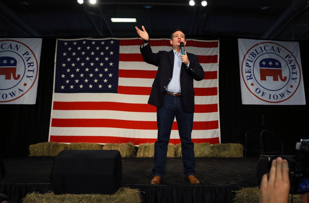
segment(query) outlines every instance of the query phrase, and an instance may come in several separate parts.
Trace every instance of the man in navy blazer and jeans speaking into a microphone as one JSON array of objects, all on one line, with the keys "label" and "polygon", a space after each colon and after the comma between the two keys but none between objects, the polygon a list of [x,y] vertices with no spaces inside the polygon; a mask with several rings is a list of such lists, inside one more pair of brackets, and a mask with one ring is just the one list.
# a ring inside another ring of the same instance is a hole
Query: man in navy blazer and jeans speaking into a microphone
[{"label": "man in navy blazer and jeans speaking into a microphone", "polygon": [[172,50],[153,53],[149,44],[149,35],[135,27],[138,35],[144,39],[140,47],[146,63],[158,66],[158,72],[152,84],[148,104],[157,106],[158,141],[155,142],[153,179],[150,184],[159,184],[165,167],[167,144],[171,128],[176,117],[181,140],[184,164],[184,176],[192,184],[200,184],[195,177],[194,143],[191,141],[194,112],[193,79],[201,81],[205,72],[194,54],[181,52],[180,43],[186,44],[186,36],[181,30],[171,34]]}]

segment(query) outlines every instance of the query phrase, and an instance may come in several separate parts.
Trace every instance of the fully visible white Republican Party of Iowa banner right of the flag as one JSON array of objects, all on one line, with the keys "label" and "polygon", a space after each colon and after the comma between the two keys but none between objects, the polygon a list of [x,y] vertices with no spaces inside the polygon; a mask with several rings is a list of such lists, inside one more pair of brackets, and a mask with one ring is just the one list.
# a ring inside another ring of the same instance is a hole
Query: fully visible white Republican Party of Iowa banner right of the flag
[{"label": "fully visible white Republican Party of Iowa banner right of the flag", "polygon": [[243,104],[305,105],[298,42],[238,39]]}]

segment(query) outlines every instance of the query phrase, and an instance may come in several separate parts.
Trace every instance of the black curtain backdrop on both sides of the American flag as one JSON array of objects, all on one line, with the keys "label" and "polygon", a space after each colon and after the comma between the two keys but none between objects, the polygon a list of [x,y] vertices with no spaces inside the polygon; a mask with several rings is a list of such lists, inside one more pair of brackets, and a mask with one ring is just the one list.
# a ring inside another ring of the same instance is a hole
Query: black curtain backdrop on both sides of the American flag
[{"label": "black curtain backdrop on both sides of the American flag", "polygon": [[[309,41],[300,41],[303,81],[306,102],[309,89]],[[56,39],[43,39],[40,71],[35,105],[0,104],[0,157],[13,158],[28,155],[28,146],[47,142]],[[260,135],[269,130],[283,140],[284,155],[293,155],[300,138],[309,137],[308,105],[242,105],[240,90],[237,38],[220,40],[219,53],[219,106],[222,143],[245,145],[248,131]],[[263,120],[264,115],[264,120]],[[280,150],[281,143],[265,133],[265,151]],[[248,149],[259,149],[259,140],[248,137]],[[251,156],[259,155],[247,153]]]}]

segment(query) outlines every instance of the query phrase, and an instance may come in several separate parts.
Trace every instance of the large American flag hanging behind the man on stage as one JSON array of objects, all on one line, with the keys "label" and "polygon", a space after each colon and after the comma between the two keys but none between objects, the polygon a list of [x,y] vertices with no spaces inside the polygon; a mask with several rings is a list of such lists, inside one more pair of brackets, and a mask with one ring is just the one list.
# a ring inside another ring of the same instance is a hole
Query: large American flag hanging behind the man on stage
[{"label": "large American flag hanging behind the man on stage", "polygon": [[[147,104],[158,67],[147,64],[142,39],[58,39],[49,141],[154,143],[156,107]],[[151,39],[154,53],[171,51],[169,39]],[[205,78],[194,81],[192,141],[220,143],[219,41],[187,39]],[[180,143],[176,119],[170,143]]]}]

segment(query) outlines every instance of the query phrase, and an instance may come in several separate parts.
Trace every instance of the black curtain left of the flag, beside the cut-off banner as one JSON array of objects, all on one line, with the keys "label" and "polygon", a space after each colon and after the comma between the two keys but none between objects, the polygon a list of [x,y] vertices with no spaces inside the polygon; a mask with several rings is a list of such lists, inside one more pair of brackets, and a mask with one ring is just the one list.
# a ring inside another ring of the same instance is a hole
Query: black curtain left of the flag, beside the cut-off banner
[{"label": "black curtain left of the flag, beside the cut-off banner", "polygon": [[55,50],[56,39],[43,39],[36,104],[0,104],[0,157],[27,156],[29,145],[48,141]]}]

